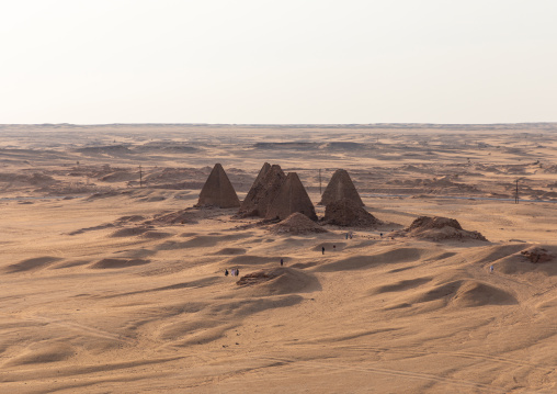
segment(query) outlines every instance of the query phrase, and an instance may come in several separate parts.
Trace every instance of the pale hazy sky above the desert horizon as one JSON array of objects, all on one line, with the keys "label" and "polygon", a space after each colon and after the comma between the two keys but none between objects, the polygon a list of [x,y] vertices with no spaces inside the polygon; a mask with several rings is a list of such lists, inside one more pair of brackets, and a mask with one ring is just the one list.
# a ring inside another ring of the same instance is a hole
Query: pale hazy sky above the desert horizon
[{"label": "pale hazy sky above the desert horizon", "polygon": [[0,123],[557,122],[556,0],[0,0]]}]

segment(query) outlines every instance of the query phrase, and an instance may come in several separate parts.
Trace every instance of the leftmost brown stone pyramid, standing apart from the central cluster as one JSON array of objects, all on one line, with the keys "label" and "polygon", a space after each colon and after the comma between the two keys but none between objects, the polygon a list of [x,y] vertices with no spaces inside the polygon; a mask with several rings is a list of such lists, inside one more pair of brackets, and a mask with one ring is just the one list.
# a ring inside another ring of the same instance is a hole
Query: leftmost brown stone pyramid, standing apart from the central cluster
[{"label": "leftmost brown stone pyramid, standing apart from the central cluster", "polygon": [[200,193],[200,201],[195,206],[213,205],[218,207],[236,207],[240,206],[240,200],[234,190],[230,180],[220,166],[216,164],[203,185]]}]

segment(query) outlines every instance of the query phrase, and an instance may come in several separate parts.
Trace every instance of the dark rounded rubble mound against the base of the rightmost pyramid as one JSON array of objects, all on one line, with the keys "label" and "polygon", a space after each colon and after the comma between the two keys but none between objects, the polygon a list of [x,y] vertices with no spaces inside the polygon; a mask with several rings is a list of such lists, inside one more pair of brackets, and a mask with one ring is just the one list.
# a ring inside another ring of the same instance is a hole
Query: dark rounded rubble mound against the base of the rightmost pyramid
[{"label": "dark rounded rubble mound against the base of the rightmost pyramid", "polygon": [[323,222],[350,227],[374,227],[383,223],[362,205],[349,199],[341,199],[327,204]]}]

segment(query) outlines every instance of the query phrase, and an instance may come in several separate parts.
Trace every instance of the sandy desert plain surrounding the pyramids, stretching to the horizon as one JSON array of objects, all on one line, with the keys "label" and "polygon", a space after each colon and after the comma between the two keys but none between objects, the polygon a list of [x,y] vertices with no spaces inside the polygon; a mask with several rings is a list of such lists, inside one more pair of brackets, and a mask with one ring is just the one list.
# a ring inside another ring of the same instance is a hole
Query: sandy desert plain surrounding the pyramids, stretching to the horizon
[{"label": "sandy desert plain surrounding the pyramids, stretching to the horizon", "polygon": [[[1,393],[557,392],[557,124],[0,135]],[[383,224],[193,207],[216,162],[242,200],[265,161],[319,217],[345,169]],[[419,216],[488,240],[390,236]]]}]

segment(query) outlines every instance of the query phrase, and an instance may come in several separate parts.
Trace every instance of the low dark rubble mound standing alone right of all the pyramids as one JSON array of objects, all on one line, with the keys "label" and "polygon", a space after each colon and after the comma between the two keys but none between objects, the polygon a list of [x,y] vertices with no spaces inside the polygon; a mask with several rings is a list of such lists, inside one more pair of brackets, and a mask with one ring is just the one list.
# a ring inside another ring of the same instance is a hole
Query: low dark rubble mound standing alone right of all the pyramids
[{"label": "low dark rubble mound standing alone right of all the pyramids", "polygon": [[463,229],[455,218],[420,216],[410,226],[389,234],[390,237],[413,237],[429,240],[484,240],[478,232]]}]

